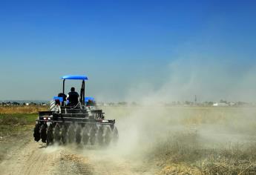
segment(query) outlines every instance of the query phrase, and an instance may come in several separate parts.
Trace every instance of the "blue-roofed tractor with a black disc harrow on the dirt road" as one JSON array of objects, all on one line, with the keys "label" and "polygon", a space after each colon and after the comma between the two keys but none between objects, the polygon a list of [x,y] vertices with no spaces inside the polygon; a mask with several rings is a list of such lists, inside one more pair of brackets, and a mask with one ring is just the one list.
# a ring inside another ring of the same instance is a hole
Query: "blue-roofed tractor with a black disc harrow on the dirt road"
[{"label": "blue-roofed tractor with a black disc harrow on the dirt road", "polygon": [[[40,111],[33,131],[36,142],[41,139],[47,145],[54,142],[84,145],[109,145],[118,140],[114,119],[105,119],[105,113],[96,107],[93,97],[85,97],[87,76],[62,76],[62,93],[53,97],[49,111]],[[82,80],[79,100],[67,102],[66,80]]]}]

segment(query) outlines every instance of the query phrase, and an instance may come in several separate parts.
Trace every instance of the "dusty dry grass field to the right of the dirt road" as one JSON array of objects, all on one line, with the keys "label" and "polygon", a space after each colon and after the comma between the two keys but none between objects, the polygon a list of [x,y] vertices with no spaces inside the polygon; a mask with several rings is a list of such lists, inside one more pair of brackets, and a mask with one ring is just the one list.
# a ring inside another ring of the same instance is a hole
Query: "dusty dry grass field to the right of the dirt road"
[{"label": "dusty dry grass field to the right of the dirt road", "polygon": [[[256,174],[255,108],[106,108],[158,174]],[[128,132],[127,132],[128,131]],[[134,132],[136,132],[134,131]],[[125,146],[125,145],[124,145]]]}]

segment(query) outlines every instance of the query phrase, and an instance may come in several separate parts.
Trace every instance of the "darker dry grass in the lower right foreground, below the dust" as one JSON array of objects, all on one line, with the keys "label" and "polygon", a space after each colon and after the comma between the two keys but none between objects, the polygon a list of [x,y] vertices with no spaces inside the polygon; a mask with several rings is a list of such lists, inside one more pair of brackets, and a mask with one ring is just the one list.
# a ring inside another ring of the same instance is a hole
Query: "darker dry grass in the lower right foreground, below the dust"
[{"label": "darker dry grass in the lower right foreground, below the dust", "polygon": [[159,174],[256,174],[255,143],[205,148],[197,134],[179,134],[151,150]]}]

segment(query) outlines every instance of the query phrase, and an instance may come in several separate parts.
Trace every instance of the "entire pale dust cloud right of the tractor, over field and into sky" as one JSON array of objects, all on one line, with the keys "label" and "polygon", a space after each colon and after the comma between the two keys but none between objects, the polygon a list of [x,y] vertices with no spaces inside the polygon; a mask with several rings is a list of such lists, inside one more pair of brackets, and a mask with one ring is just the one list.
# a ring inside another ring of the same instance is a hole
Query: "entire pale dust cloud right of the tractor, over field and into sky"
[{"label": "entire pale dust cloud right of the tractor, over field and into sky", "polygon": [[186,150],[190,159],[190,152],[198,149],[251,148],[256,141],[255,108],[163,106],[164,102],[193,101],[194,95],[200,102],[255,102],[256,67],[240,67],[238,74],[232,66],[232,60],[177,59],[160,87],[147,82],[131,87],[126,100],[137,106],[119,107],[125,112],[117,107],[105,109],[119,128],[114,153],[146,159]]}]

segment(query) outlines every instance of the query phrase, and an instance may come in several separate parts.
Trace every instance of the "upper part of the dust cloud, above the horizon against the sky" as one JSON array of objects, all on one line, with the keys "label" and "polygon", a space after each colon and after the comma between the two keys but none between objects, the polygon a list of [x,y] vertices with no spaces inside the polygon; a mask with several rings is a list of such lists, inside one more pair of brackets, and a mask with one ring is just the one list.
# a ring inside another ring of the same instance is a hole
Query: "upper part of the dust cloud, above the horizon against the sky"
[{"label": "upper part of the dust cloud, above the horizon against the sky", "polygon": [[[131,84],[128,90],[128,102],[155,104],[157,102],[192,101],[197,95],[198,102],[219,102],[225,99],[232,102],[256,102],[256,63],[244,65],[232,59],[207,59],[207,57],[177,59],[165,67],[163,77],[148,77],[139,85]],[[238,66],[239,65],[239,66]],[[154,79],[164,79],[155,84]]]}]

